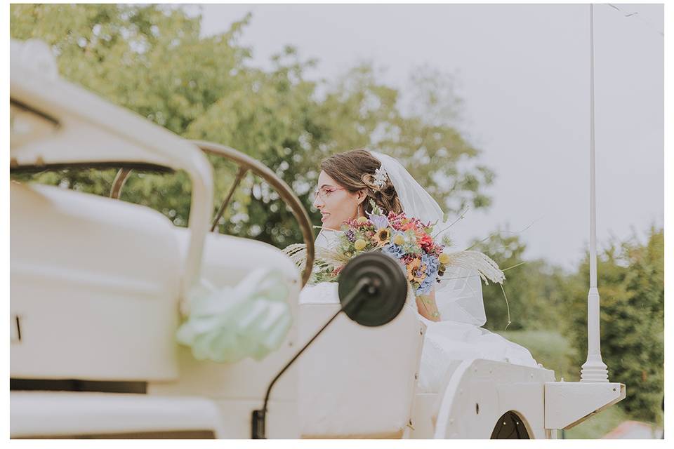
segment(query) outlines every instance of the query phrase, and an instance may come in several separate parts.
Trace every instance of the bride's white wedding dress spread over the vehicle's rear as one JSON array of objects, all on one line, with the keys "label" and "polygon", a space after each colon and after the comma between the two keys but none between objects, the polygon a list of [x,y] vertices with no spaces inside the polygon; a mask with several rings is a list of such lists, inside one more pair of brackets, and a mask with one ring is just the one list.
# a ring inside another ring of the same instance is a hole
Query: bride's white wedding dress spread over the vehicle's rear
[{"label": "bride's white wedding dress spread over the vehicle's rear", "polygon": [[[336,232],[322,230],[316,239],[316,246],[328,248]],[[445,277],[448,277],[447,275]],[[410,293],[406,307],[414,309],[418,319],[427,326],[418,388],[420,392],[442,391],[449,375],[464,360],[484,358],[517,365],[536,367],[537,363],[528,349],[506,340],[480,326],[486,321],[482,303],[480,277],[467,272],[455,272],[443,282],[442,298],[437,302],[442,321],[429,321],[416,308],[414,295]],[[308,285],[300,293],[303,302],[339,302],[337,283],[317,283]]]}]

